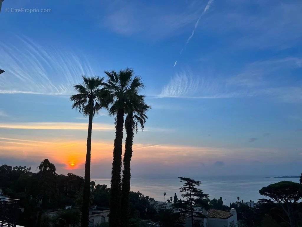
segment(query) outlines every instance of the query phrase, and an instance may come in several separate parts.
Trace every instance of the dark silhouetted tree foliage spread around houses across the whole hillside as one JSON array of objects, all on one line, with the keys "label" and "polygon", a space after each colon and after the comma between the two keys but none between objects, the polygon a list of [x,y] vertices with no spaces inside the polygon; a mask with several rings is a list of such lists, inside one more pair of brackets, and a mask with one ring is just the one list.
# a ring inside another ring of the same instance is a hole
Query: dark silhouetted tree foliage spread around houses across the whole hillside
[{"label": "dark silhouetted tree foliage spread around houses across the whole hillside", "polygon": [[[38,172],[32,173],[31,168],[26,166],[0,166],[0,188],[2,193],[15,199],[20,199],[20,207],[24,212],[19,212],[18,224],[32,227],[49,227],[69,225],[78,227],[79,210],[65,210],[55,218],[49,218],[43,214],[48,209],[63,208],[66,205],[80,207],[82,204],[82,188],[84,179],[72,173],[59,175],[56,167],[45,159],[38,166]],[[90,205],[108,209],[110,204],[110,188],[106,185],[90,183]],[[175,193],[174,206],[185,204],[185,201],[177,199]],[[196,197],[197,198],[197,197]],[[203,198],[205,199],[205,198]],[[140,192],[130,192],[129,195],[129,226],[144,227],[146,221],[160,223],[161,226],[180,226],[181,213],[173,213],[170,210],[156,212],[150,206],[149,201],[154,200],[144,196]],[[237,210],[239,220],[238,227],[289,227],[288,215],[282,205],[269,199],[259,199],[257,206],[251,208],[243,202],[236,202],[226,206],[223,199],[208,199],[208,209],[227,211],[230,208]],[[196,202],[198,200],[195,200]],[[198,205],[198,204],[197,204]],[[296,202],[294,207],[294,219],[296,226],[302,226],[302,203]],[[64,223],[62,224],[62,220]],[[102,224],[100,226],[108,226]]]}]

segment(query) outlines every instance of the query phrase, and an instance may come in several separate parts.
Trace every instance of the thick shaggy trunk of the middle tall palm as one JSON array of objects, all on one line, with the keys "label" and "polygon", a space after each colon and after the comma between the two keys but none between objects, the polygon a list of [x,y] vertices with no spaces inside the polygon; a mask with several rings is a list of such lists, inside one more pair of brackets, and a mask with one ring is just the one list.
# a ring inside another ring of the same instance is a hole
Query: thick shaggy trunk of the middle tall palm
[{"label": "thick shaggy trunk of the middle tall palm", "polygon": [[111,172],[110,192],[110,227],[120,227],[120,173],[122,169],[122,142],[124,128],[124,111],[119,110],[116,117],[115,140],[113,148],[113,162]]}]

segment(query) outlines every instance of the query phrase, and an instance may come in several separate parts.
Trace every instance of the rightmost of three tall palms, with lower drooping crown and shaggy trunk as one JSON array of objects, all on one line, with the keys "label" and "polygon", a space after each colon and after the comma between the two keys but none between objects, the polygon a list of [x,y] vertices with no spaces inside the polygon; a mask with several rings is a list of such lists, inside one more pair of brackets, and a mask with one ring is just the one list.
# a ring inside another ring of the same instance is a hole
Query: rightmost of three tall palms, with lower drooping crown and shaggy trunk
[{"label": "rightmost of three tall palms, with lower drooping crown and shaggy trunk", "polygon": [[148,117],[146,116],[146,111],[151,107],[144,102],[144,96],[133,94],[131,100],[128,100],[129,112],[127,112],[127,117],[125,120],[126,128],[126,143],[125,143],[125,153],[124,153],[124,170],[122,178],[122,189],[121,189],[121,225],[124,227],[128,226],[128,210],[129,210],[129,194],[130,194],[130,162],[132,157],[132,146],[133,146],[133,131],[138,129],[138,124],[140,124],[142,130],[144,128],[144,123]]}]

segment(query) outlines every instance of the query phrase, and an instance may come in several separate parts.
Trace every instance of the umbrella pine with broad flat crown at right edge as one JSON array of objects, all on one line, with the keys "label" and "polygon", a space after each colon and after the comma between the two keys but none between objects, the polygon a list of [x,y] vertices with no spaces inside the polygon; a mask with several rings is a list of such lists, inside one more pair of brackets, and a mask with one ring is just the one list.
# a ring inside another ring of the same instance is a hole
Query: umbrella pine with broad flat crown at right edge
[{"label": "umbrella pine with broad flat crown at right edge", "polygon": [[291,227],[296,227],[295,209],[297,201],[302,199],[302,185],[292,181],[280,181],[278,183],[270,184],[259,190],[263,196],[268,196],[275,202],[278,202],[286,215],[288,216],[288,224]]}]

